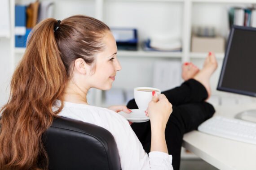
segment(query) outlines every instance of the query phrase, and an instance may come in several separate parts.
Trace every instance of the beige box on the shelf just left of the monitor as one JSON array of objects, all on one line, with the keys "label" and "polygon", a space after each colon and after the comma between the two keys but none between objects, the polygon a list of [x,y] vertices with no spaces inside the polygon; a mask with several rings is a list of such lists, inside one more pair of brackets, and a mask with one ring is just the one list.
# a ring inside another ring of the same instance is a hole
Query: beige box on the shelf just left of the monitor
[{"label": "beige box on the shelf just left of the monitor", "polygon": [[196,37],[191,38],[191,52],[223,53],[225,51],[225,39],[223,37]]}]

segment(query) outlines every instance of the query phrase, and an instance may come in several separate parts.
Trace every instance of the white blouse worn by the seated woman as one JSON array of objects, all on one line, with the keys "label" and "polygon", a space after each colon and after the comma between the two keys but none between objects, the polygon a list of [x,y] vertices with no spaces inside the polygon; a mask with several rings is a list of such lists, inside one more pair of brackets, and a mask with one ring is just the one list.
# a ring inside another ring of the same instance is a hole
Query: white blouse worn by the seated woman
[{"label": "white blouse worn by the seated woman", "polygon": [[172,155],[156,151],[148,155],[128,121],[113,110],[64,102],[64,108],[58,115],[108,130],[115,138],[122,170],[173,170]]}]

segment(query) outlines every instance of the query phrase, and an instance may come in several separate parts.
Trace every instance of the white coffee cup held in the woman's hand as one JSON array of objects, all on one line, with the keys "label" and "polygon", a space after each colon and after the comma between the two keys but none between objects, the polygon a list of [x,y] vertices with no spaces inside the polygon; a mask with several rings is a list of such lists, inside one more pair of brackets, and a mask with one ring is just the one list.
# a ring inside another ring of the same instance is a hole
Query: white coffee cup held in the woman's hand
[{"label": "white coffee cup held in the woman's hand", "polygon": [[140,110],[146,110],[152,100],[152,91],[160,94],[161,90],[153,87],[136,87],[133,89],[135,102]]}]

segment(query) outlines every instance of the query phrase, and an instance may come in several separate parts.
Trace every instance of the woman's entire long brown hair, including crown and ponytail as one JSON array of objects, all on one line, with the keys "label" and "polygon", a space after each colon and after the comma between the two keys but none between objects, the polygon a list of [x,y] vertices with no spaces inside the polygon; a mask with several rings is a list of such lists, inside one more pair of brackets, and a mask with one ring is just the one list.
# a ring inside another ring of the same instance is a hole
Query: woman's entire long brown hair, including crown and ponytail
[{"label": "woman's entire long brown hair, including crown and ponytail", "polygon": [[[1,109],[0,169],[47,169],[42,135],[63,108],[62,93],[75,59],[94,64],[94,55],[104,49],[101,38],[110,30],[87,16],[40,22],[32,30],[26,51],[10,85],[10,97]],[[62,101],[57,111],[56,100]],[[43,160],[41,162],[41,160]]]}]

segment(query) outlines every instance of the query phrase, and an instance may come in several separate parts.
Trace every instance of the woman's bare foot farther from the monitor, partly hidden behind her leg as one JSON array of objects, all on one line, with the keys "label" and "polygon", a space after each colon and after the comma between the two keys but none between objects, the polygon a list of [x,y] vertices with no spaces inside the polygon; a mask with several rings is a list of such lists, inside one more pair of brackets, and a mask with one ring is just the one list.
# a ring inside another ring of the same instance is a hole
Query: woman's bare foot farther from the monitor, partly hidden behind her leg
[{"label": "woman's bare foot farther from the monitor, partly hidden behind her leg", "polygon": [[199,68],[196,67],[193,63],[184,63],[182,65],[182,74],[181,77],[183,80],[189,80],[190,78],[193,78],[196,73],[199,72]]}]

